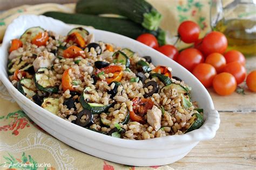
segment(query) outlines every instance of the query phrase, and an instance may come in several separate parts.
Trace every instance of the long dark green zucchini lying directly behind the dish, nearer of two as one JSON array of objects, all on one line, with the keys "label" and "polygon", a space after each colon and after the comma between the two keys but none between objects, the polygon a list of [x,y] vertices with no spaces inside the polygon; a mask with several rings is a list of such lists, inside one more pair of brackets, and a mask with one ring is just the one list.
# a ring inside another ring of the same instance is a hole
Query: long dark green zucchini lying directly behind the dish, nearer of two
[{"label": "long dark green zucchini lying directly behind the dish, nearer of two", "polygon": [[62,20],[64,23],[93,26],[98,30],[122,34],[123,36],[133,39],[136,39],[140,34],[151,33],[157,37],[159,45],[165,44],[165,32],[160,28],[157,31],[150,31],[137,23],[123,18],[99,17],[81,13],[63,12],[45,12],[43,15]]}]

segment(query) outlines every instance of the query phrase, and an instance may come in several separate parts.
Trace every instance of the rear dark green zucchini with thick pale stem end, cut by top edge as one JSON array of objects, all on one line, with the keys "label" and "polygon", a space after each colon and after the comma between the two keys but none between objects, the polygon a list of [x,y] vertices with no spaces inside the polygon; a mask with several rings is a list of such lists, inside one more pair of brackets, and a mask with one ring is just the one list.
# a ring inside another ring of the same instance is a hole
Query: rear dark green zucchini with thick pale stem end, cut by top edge
[{"label": "rear dark green zucchini with thick pale stem end, cut by top edge", "polygon": [[114,13],[154,31],[161,21],[161,14],[144,0],[80,0],[76,12],[94,15]]}]

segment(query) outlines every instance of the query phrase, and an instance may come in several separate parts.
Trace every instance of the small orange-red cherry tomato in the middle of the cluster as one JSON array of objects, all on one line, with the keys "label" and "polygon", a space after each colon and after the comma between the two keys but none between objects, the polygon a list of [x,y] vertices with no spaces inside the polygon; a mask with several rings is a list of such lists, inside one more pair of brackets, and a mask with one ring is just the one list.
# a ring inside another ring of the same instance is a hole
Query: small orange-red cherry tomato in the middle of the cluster
[{"label": "small orange-red cherry tomato in the middle of the cluster", "polygon": [[207,56],[205,63],[212,65],[216,69],[217,73],[221,73],[226,65],[226,59],[220,53],[212,53]]}]

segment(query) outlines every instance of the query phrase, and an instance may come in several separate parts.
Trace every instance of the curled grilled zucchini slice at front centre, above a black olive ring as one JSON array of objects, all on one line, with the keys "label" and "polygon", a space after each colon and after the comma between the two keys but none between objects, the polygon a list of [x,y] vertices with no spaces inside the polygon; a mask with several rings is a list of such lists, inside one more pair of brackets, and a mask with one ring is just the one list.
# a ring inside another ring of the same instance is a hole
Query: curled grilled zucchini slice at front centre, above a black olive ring
[{"label": "curled grilled zucchini slice at front centre, above a black olive ring", "polygon": [[83,91],[83,94],[80,97],[80,103],[83,108],[91,110],[92,114],[101,114],[102,112],[107,112],[109,108],[111,108],[114,103],[111,104],[101,104],[101,103],[93,103],[91,102],[91,95],[95,90],[90,87],[86,87]]}]

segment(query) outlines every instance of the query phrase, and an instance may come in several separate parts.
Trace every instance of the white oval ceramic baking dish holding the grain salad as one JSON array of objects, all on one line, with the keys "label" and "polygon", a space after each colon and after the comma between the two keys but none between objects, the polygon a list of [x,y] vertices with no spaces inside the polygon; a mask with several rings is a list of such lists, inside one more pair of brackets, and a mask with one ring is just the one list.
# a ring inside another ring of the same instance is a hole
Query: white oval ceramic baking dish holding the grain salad
[{"label": "white oval ceramic baking dish holding the grain salad", "polygon": [[198,130],[179,136],[167,136],[149,140],[126,140],[84,129],[39,107],[12,86],[6,73],[8,48],[11,39],[19,38],[26,29],[32,26],[41,26],[46,30],[63,35],[66,35],[73,27],[45,16],[23,15],[18,17],[8,26],[5,32],[3,44],[0,49],[0,75],[5,87],[19,106],[32,121],[41,126],[41,128],[53,137],[77,150],[119,164],[154,166],[171,164],[183,158],[200,140],[208,140],[215,136],[220,123],[219,114],[217,110],[214,110],[211,96],[196,77],[178,65],[178,63],[153,48],[119,34],[101,30],[88,29],[90,33],[95,34],[96,40],[111,42],[120,47],[130,48],[132,51],[138,52],[140,56],[150,55],[152,56],[154,65],[172,67],[173,75],[179,76],[192,87],[191,95],[193,101],[198,101],[199,108],[204,109],[205,122],[203,126]]}]

